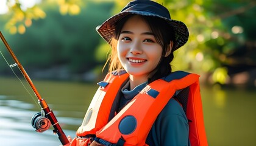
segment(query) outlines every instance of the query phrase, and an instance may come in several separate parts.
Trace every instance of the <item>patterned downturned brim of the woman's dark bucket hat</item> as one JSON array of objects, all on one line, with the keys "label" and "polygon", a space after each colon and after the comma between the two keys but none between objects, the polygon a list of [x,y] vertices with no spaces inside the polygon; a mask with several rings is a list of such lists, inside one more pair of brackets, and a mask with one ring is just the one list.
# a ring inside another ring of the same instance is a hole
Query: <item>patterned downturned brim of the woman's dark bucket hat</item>
[{"label": "patterned downturned brim of the woman's dark bucket hat", "polygon": [[182,21],[168,19],[163,16],[155,15],[155,13],[145,11],[128,11],[118,13],[117,15],[108,18],[101,26],[96,27],[97,32],[99,33],[99,35],[101,35],[102,38],[104,38],[105,41],[107,41],[107,43],[110,43],[110,39],[112,38],[113,33],[116,29],[116,23],[120,19],[124,18],[129,14],[137,14],[142,16],[156,16],[158,18],[165,19],[165,21],[169,24],[170,27],[174,29],[175,32],[176,47],[173,48],[174,50],[179,49],[188,41],[188,28],[184,23],[182,23]]}]

